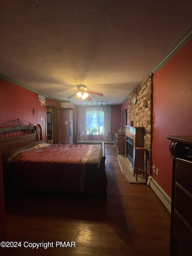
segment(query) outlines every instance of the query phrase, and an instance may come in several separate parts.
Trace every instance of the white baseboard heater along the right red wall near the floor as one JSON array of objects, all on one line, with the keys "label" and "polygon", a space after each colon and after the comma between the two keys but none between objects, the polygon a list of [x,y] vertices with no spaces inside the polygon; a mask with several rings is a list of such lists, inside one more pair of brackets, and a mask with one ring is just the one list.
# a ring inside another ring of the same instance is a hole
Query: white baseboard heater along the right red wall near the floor
[{"label": "white baseboard heater along the right red wall near the floor", "polygon": [[171,212],[171,198],[165,193],[160,185],[153,179],[152,176],[148,177],[147,185],[152,188],[155,194],[159,197],[164,206]]}]

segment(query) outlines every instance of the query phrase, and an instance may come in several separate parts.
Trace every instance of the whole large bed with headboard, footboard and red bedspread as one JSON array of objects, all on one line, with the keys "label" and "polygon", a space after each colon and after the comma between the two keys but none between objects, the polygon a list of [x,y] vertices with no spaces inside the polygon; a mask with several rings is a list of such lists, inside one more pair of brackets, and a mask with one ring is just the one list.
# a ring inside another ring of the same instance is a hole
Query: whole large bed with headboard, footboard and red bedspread
[{"label": "whole large bed with headboard, footboard and red bedspread", "polygon": [[0,136],[10,188],[107,196],[104,141],[101,146],[45,143],[41,125],[19,119],[1,125]]}]

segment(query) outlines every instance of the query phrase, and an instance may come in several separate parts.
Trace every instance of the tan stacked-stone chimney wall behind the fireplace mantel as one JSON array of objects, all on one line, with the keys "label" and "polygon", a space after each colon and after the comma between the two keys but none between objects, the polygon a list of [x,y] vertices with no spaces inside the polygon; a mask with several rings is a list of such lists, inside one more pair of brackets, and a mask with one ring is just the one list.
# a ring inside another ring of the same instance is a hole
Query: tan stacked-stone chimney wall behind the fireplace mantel
[{"label": "tan stacked-stone chimney wall behind the fireplace mantel", "polygon": [[[137,97],[137,104],[133,103]],[[150,73],[133,92],[129,95],[129,121],[133,126],[145,127],[143,146],[148,150],[148,173],[152,165],[152,122],[153,122],[153,74]],[[147,101],[147,106],[142,107],[142,102]]]}]

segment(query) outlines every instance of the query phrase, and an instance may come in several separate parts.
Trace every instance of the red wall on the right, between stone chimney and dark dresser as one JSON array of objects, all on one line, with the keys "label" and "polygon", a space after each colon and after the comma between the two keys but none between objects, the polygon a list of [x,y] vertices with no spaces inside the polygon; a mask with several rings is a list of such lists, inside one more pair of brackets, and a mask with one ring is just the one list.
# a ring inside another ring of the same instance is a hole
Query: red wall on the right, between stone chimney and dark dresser
[{"label": "red wall on the right, between stone chimney and dark dresser", "polygon": [[167,135],[192,135],[192,39],[153,76],[152,164],[156,182],[171,197],[172,158]]}]

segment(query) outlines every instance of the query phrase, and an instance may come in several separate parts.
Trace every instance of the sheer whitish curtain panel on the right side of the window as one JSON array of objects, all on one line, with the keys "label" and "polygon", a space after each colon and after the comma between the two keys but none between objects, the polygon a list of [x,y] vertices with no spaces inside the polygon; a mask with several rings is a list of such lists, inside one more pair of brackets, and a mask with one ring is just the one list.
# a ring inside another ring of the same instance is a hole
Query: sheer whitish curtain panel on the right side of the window
[{"label": "sheer whitish curtain panel on the right side of the window", "polygon": [[104,107],[104,141],[112,143],[111,136],[111,107]]}]

